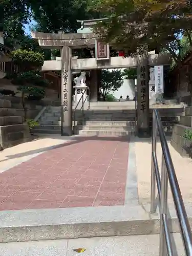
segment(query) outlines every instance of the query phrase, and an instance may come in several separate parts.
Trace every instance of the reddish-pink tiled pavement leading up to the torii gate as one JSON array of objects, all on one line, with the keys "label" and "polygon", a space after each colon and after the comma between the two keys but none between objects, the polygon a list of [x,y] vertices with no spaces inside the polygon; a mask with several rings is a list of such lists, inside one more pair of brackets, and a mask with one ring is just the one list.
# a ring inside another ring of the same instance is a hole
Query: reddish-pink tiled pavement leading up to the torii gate
[{"label": "reddish-pink tiled pavement leading up to the torii gate", "polygon": [[79,138],[0,174],[0,210],[123,205],[129,142]]}]

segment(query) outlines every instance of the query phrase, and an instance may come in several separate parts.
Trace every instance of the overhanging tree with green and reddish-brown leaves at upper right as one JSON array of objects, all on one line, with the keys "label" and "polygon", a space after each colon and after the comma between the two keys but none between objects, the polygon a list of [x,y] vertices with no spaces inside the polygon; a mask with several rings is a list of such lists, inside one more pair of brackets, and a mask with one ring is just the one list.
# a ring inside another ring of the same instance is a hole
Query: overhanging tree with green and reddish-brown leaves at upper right
[{"label": "overhanging tree with green and reddish-brown leaves at upper right", "polygon": [[[127,55],[142,54],[148,50],[169,52],[178,66],[182,65],[183,45],[186,36],[192,46],[191,4],[187,0],[95,0],[92,8],[108,19],[98,23],[95,32],[116,49]],[[191,72],[186,74],[190,82]]]}]

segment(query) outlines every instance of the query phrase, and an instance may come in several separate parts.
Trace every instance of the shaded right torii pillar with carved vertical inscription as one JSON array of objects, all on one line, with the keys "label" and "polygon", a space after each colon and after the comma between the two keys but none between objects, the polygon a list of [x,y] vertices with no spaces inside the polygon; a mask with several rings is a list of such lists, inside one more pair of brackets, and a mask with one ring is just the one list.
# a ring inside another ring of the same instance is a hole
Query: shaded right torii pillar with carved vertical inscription
[{"label": "shaded right torii pillar with carved vertical inscription", "polygon": [[140,138],[151,136],[148,81],[149,67],[146,53],[138,56],[137,61],[137,135]]}]

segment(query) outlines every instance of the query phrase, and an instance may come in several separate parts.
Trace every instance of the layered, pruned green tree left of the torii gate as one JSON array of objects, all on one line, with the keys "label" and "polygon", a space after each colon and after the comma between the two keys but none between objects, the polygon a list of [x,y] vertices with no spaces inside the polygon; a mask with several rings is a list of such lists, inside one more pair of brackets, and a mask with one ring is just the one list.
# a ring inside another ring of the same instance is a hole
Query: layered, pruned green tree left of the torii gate
[{"label": "layered, pruned green tree left of the torii gate", "polygon": [[45,95],[45,87],[49,84],[41,76],[41,66],[44,63],[44,55],[34,51],[15,50],[11,53],[12,61],[21,67],[24,72],[8,74],[13,84],[18,85],[17,90],[22,92],[22,105],[24,118],[27,117],[26,96],[29,99],[41,99]]}]

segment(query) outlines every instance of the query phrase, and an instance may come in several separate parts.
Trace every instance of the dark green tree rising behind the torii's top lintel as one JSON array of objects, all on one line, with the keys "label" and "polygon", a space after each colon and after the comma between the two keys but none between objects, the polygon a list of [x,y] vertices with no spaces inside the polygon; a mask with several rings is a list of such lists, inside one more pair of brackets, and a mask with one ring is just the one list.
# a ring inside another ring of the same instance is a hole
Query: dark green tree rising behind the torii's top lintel
[{"label": "dark green tree rising behind the torii's top lintel", "polygon": [[87,11],[84,0],[29,0],[33,18],[37,22],[36,30],[57,32],[60,28],[65,33],[76,33],[79,28],[77,19],[98,18],[99,13]]}]

